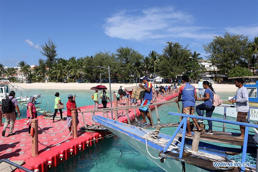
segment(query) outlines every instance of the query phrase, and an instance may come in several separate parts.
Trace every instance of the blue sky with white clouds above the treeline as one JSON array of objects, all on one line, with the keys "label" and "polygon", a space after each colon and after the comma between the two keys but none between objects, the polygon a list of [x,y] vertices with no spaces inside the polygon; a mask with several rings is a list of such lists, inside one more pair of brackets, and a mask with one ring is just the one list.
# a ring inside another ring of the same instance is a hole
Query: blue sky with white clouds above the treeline
[{"label": "blue sky with white clouds above the treeline", "polygon": [[258,36],[258,1],[0,1],[0,63],[38,64],[51,38],[58,58],[129,46],[161,53],[167,41],[205,56],[212,35]]}]

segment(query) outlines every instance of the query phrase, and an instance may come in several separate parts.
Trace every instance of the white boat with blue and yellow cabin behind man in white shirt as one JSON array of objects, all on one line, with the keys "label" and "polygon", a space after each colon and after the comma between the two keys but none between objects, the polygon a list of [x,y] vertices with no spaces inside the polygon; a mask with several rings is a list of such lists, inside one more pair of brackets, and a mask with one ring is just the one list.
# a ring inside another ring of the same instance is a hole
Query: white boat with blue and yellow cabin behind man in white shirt
[{"label": "white boat with blue and yellow cabin behind man in white shirt", "polygon": [[[235,78],[228,78],[228,79],[236,79],[236,78],[258,78],[258,76],[252,76],[252,77],[235,77]],[[252,108],[252,107],[258,107],[258,97],[257,97],[257,90],[258,90],[258,80],[255,84],[244,84],[244,87],[247,88],[248,94],[249,94],[249,106],[251,107],[250,110],[250,120],[253,120],[255,122],[258,122],[258,109]],[[229,99],[233,97],[228,97]],[[234,105],[229,102],[229,100],[222,100],[224,106],[230,106],[226,110],[226,116],[231,116],[236,118],[237,112],[236,108],[234,108]],[[213,113],[224,115],[224,107],[215,107]]]}]

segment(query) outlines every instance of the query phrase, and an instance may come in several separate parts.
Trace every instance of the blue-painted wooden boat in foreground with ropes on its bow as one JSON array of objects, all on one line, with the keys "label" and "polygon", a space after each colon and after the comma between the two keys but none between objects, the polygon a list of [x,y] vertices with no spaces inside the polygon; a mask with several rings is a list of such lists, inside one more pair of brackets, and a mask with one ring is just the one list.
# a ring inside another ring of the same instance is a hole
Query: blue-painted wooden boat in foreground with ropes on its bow
[{"label": "blue-painted wooden boat in foreground with ropes on its bow", "polygon": [[[217,131],[214,131],[213,135],[205,134],[204,131],[191,132],[192,137],[188,137],[185,136],[187,117],[196,118],[196,116],[173,112],[168,114],[184,117],[173,136],[160,133],[159,127],[156,130],[147,130],[102,116],[93,116],[93,120],[125,140],[165,171],[257,171],[255,166],[257,160],[250,157],[257,153],[258,131],[255,129],[258,128],[257,124],[199,116],[198,118],[203,120],[245,126],[245,138],[236,139],[239,133]],[[254,128],[255,135],[249,134],[249,127]],[[223,145],[218,146],[214,142]],[[228,144],[239,145],[241,148],[233,148]],[[236,158],[237,156],[240,160]],[[252,161],[246,164],[246,160]],[[246,167],[241,167],[241,163]]]}]

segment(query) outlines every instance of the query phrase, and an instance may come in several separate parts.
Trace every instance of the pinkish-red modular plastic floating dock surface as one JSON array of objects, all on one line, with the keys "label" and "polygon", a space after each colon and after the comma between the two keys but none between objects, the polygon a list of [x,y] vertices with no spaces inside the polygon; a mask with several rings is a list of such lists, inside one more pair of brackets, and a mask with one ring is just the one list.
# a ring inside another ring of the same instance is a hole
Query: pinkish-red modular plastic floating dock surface
[{"label": "pinkish-red modular plastic floating dock surface", "polygon": [[[178,94],[174,94],[172,96],[169,96],[161,101],[168,101],[171,100],[174,97],[177,97]],[[161,102],[157,101],[157,102]],[[114,103],[114,102],[113,102]],[[113,105],[114,106],[114,105]],[[122,105],[118,105],[122,106]],[[102,105],[99,105],[101,108]],[[107,107],[110,107],[110,103],[107,104]],[[151,109],[154,109],[155,106],[150,106]],[[83,106],[80,107],[81,111],[87,111],[89,109],[93,109],[93,105],[89,106]],[[125,110],[124,110],[125,111]],[[122,112],[121,111],[118,111]],[[136,114],[139,116],[139,110],[136,108]],[[85,121],[88,125],[92,124],[91,121],[91,114],[90,113],[84,113]],[[95,115],[101,115],[102,112],[96,112]],[[108,113],[109,117],[111,117],[111,112]],[[63,116],[66,117],[66,110],[63,111]],[[113,113],[114,116],[114,113]],[[133,109],[129,110],[129,117],[131,121],[134,121],[134,112]],[[83,118],[81,114],[79,113],[79,125],[78,129],[80,127],[84,126]],[[18,118],[17,118],[18,119]],[[26,121],[28,119],[20,119],[16,120],[14,124],[14,130],[13,132],[16,133],[13,136],[7,137],[9,134],[9,126],[7,128],[7,131],[5,133],[5,137],[1,137],[0,139],[0,159],[9,159],[9,160],[23,160],[25,161],[24,167],[32,170],[32,171],[48,171],[48,169],[51,169],[53,167],[56,167],[59,165],[60,162],[63,162],[69,157],[72,157],[76,155],[79,151],[83,151],[87,149],[89,146],[93,145],[93,139],[95,142],[99,142],[100,137],[105,136],[107,133],[102,132],[78,132],[79,137],[73,139],[71,136],[67,138],[65,142],[62,142],[61,144],[58,144],[53,147],[47,147],[43,146],[40,143],[38,143],[38,150],[39,155],[37,157],[31,156],[31,136],[28,136],[28,126],[26,125]],[[118,116],[118,121],[127,123],[126,116]],[[52,123],[52,119],[43,119],[43,116],[38,116],[38,126],[40,126],[43,130],[47,132],[58,132],[62,130],[67,125],[67,121],[56,121],[55,123]],[[0,127],[0,131],[2,132],[3,126]],[[60,133],[57,134],[47,134],[42,132],[40,129],[38,130],[38,140],[46,145],[53,145],[56,143],[61,142],[64,140],[69,134],[68,128],[63,130]],[[103,138],[101,138],[103,139]],[[80,150],[79,150],[80,149]],[[62,159],[60,158],[62,157]],[[16,169],[16,171],[21,171]]]}]

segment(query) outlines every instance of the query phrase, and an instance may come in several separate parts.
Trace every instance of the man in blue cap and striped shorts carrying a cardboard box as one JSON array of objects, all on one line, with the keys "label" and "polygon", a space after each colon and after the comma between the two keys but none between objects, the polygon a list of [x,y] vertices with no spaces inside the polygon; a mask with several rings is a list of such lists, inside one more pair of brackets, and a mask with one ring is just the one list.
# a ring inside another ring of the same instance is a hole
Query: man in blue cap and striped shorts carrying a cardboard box
[{"label": "man in blue cap and striped shorts carrying a cardboard box", "polygon": [[[150,80],[148,79],[148,77],[143,77],[142,82],[144,83],[144,85],[142,85],[142,84],[139,85],[141,88],[143,88],[145,90],[145,94],[144,94],[141,106],[149,105],[150,101],[152,100],[152,89],[151,89],[152,84],[149,81]],[[151,126],[152,124],[151,124],[151,120],[150,120],[150,113],[148,110],[148,106],[140,107],[139,110],[140,110],[141,116],[143,118],[143,120],[141,122],[139,122],[139,124],[147,123],[146,118],[145,118],[145,114],[146,114],[148,120],[150,121],[150,123],[147,124],[146,126]]]}]

